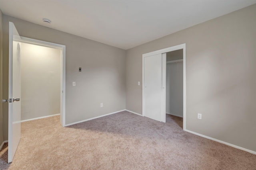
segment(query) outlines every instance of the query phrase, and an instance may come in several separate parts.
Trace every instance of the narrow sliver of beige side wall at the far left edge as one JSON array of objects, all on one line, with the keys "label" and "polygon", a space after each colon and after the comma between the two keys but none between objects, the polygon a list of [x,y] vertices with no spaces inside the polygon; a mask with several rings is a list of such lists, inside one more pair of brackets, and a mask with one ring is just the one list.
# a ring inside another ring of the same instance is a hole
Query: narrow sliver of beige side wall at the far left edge
[{"label": "narrow sliver of beige side wall at the far left edge", "polygon": [[[2,32],[3,32],[3,14],[0,10],[0,99],[2,100]],[[3,115],[2,102],[0,102],[0,145],[3,143]]]}]

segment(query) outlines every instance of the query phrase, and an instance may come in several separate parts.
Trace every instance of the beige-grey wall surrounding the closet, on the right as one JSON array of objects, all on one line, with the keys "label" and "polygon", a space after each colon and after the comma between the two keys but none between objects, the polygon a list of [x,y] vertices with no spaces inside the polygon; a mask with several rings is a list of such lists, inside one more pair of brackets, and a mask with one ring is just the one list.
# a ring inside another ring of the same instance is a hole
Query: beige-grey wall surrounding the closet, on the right
[{"label": "beige-grey wall surrounding the closet, on the right", "polygon": [[126,109],[142,114],[142,54],[186,43],[186,129],[256,151],[255,16],[252,5],[127,50]]}]

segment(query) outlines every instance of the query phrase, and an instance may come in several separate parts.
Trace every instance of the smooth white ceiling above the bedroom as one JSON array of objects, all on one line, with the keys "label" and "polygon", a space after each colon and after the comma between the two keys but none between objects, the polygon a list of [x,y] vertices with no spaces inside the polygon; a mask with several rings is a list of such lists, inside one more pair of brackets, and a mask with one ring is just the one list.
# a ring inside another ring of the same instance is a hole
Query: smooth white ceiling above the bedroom
[{"label": "smooth white ceiling above the bedroom", "polygon": [[[8,16],[130,49],[256,0],[0,0]],[[48,18],[52,23],[44,23]]]}]

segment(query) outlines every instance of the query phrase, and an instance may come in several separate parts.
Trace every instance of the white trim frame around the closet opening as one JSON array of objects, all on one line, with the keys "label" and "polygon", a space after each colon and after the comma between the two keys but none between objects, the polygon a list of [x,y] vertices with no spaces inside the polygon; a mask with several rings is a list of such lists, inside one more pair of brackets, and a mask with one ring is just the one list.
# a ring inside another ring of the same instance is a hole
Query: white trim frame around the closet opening
[{"label": "white trim frame around the closet opening", "polygon": [[183,49],[183,130],[186,130],[186,43],[142,55],[142,116],[144,116],[144,58]]}]

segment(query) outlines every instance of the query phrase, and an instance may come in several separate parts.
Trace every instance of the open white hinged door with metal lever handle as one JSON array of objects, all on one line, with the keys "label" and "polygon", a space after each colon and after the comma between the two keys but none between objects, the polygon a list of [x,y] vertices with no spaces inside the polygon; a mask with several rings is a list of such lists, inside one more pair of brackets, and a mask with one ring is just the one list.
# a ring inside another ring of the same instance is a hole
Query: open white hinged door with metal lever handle
[{"label": "open white hinged door with metal lever handle", "polygon": [[8,163],[12,162],[21,134],[20,117],[20,35],[9,22],[9,101],[8,101]]}]

